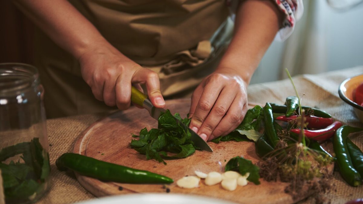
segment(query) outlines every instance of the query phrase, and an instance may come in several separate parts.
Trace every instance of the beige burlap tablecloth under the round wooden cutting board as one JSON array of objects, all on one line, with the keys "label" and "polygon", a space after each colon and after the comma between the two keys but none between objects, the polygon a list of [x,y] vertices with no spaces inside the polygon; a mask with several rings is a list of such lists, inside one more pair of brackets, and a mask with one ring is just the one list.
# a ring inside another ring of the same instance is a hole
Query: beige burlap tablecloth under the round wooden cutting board
[{"label": "beige burlap tablecloth under the round wooden cutting board", "polygon": [[[297,76],[293,80],[305,106],[317,106],[346,125],[363,127],[352,107],[344,103],[338,95],[338,86],[344,79],[362,73],[363,66],[360,66],[317,75]],[[254,84],[248,89],[248,101],[251,105],[264,106],[266,102],[283,104],[289,95],[295,95],[289,80]],[[105,114],[78,115],[47,121],[51,165],[50,189],[37,203],[63,204],[95,199],[78,183],[72,173],[58,171],[55,162],[61,154],[72,152],[78,135],[102,117],[105,117]],[[362,135],[351,139],[363,149]],[[358,188],[348,186],[338,172],[334,172],[331,183],[333,190],[325,195],[330,198],[331,203],[345,203],[363,197],[363,186]],[[303,203],[308,202],[310,201],[303,201]]]}]

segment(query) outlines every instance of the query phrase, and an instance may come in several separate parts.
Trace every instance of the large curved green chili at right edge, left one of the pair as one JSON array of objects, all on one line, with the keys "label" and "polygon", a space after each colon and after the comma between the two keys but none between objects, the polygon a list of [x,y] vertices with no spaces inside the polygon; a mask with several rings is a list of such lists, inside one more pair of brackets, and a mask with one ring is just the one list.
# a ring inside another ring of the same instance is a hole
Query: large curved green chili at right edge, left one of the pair
[{"label": "large curved green chili at right edge, left one of the pair", "polygon": [[333,148],[337,157],[339,172],[342,175],[343,179],[349,185],[354,187],[362,183],[362,178],[353,166],[351,156],[349,155],[346,139],[348,134],[358,131],[362,131],[362,129],[343,125],[335,132],[335,135],[333,137]]}]

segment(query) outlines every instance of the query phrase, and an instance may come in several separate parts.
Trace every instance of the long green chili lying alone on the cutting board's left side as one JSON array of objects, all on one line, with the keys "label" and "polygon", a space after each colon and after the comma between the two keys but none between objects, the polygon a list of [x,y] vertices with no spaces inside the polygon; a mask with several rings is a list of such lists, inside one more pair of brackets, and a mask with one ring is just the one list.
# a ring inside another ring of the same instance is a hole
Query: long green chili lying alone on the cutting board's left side
[{"label": "long green chili lying alone on the cutting board's left side", "polygon": [[74,153],[65,153],[61,155],[57,159],[56,165],[59,170],[66,170],[66,168],[68,168],[81,175],[103,181],[138,184],[167,184],[174,182],[166,176],[103,162],[101,160]]}]

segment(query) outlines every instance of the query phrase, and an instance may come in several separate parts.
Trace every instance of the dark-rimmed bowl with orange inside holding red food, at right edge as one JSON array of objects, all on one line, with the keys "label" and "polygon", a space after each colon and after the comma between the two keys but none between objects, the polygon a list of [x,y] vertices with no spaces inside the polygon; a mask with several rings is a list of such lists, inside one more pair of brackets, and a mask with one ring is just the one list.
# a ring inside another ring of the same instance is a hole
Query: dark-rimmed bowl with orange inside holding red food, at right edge
[{"label": "dark-rimmed bowl with orange inside holding red food, at right edge", "polygon": [[363,74],[351,78],[345,79],[339,86],[338,93],[339,97],[343,99],[344,102],[351,105],[354,109],[355,114],[359,118],[360,122],[363,122],[363,106],[358,105],[354,102],[355,89],[363,83]]}]

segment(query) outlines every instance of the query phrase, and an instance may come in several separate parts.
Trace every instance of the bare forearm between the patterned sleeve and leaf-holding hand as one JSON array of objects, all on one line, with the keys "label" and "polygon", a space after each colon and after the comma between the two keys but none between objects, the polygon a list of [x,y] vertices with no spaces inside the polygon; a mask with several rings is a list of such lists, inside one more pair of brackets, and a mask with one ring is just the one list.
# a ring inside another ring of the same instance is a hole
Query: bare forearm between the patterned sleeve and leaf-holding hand
[{"label": "bare forearm between the patterned sleeve and leaf-holding hand", "polygon": [[218,70],[232,69],[249,83],[280,28],[281,18],[281,11],[270,0],[242,1],[237,9],[232,41]]}]

